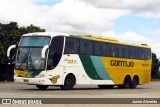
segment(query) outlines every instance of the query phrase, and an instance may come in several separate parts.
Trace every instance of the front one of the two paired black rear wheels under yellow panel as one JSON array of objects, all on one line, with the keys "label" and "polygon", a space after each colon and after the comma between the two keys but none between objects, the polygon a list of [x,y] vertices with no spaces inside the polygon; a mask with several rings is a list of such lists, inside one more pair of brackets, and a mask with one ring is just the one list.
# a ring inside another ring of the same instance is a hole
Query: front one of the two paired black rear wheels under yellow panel
[{"label": "front one of the two paired black rear wheels under yellow panel", "polygon": [[125,76],[124,81],[123,81],[123,85],[118,85],[118,88],[122,89],[127,89],[130,88],[131,85],[131,78],[129,75]]}]

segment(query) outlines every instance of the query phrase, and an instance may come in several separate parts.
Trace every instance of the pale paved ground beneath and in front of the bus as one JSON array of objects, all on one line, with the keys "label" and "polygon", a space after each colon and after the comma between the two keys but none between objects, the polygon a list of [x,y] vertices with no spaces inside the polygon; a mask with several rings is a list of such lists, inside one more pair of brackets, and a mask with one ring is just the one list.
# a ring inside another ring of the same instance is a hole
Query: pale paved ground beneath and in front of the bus
[{"label": "pale paved ground beneath and in front of the bus", "polygon": [[[74,90],[63,91],[59,87],[49,87],[48,90],[38,90],[35,86],[0,82],[0,98],[160,98],[160,82],[140,85],[137,89],[99,89],[97,86],[75,86]],[[2,106],[2,105],[0,105]],[[7,105],[6,105],[7,106]],[[17,105],[13,105],[17,106]],[[28,106],[28,105],[26,105]],[[38,105],[37,105],[38,106]],[[47,105],[53,106],[53,105]],[[56,105],[54,105],[56,106]],[[70,104],[59,105],[70,107]],[[82,105],[73,105],[81,107]],[[138,105],[83,105],[92,107],[134,107]],[[144,107],[160,107],[160,105],[144,105]],[[4,106],[3,106],[4,107]]]}]

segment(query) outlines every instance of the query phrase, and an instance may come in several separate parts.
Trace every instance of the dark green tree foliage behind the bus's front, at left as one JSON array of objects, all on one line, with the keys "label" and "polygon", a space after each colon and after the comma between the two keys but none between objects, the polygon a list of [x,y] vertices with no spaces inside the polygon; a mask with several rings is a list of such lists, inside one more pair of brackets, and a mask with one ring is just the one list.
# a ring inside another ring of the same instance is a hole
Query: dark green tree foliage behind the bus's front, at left
[{"label": "dark green tree foliage behind the bus's front, at left", "polygon": [[32,32],[45,32],[45,29],[32,24],[27,27],[18,27],[17,22],[10,22],[9,24],[0,23],[0,64],[7,63],[6,52],[8,47],[18,44],[23,34]]}]

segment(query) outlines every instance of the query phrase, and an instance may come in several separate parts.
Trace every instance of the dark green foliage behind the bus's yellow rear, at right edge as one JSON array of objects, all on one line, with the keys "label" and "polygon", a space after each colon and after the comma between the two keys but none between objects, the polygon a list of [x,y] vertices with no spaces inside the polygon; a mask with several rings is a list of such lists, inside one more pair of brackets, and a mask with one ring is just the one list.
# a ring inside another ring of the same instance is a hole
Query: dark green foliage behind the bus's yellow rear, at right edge
[{"label": "dark green foliage behind the bus's yellow rear, at right edge", "polygon": [[152,78],[159,78],[160,62],[155,53],[152,53]]}]

